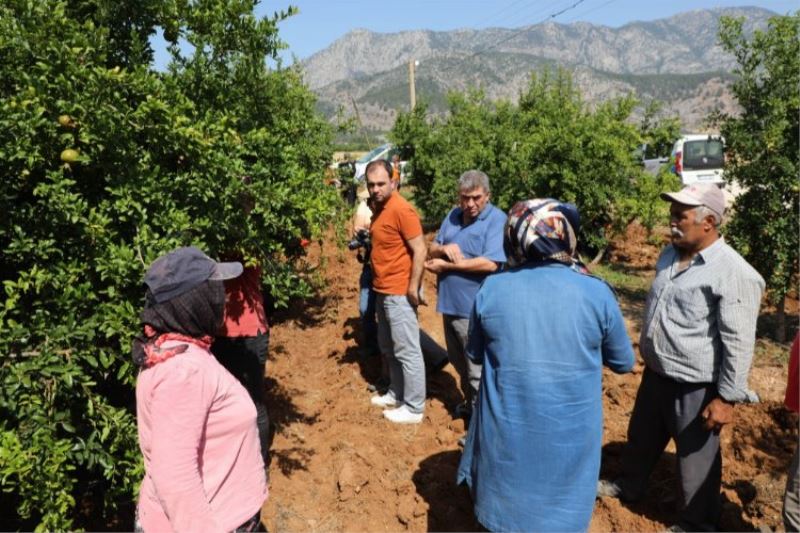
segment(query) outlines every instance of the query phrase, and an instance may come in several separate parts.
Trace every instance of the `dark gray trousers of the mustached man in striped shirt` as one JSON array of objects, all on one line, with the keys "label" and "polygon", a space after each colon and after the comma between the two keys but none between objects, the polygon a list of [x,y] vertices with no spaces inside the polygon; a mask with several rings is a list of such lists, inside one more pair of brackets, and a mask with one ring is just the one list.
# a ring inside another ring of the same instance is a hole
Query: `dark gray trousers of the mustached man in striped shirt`
[{"label": "dark gray trousers of the mustached man in striped shirt", "polygon": [[714,531],[721,512],[719,433],[700,416],[717,396],[713,383],[679,383],[645,369],[623,454],[623,498],[637,500],[670,438],[677,448],[679,522],[686,531]]}]

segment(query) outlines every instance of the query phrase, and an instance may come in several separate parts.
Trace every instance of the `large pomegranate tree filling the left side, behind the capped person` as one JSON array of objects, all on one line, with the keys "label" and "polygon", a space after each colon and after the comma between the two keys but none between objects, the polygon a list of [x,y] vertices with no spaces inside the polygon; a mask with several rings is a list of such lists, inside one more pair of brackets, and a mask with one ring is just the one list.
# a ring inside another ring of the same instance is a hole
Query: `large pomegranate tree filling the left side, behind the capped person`
[{"label": "large pomegranate tree filling the left side, behind the capped person", "polygon": [[194,244],[258,262],[279,305],[308,291],[300,239],[339,209],[332,133],[300,73],[267,66],[291,11],[253,7],[0,6],[2,529],[131,528],[113,522],[142,476],[129,351],[157,256]]}]

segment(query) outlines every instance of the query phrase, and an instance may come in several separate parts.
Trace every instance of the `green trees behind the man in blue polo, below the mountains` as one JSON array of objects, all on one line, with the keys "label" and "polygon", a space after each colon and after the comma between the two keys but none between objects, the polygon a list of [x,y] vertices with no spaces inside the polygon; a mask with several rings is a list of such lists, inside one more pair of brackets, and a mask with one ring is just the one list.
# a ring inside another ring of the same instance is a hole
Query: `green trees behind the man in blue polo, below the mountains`
[{"label": "green trees behind the man in blue polo, below the mountains", "polygon": [[537,197],[575,203],[581,241],[598,250],[634,218],[652,227],[666,213],[658,193],[677,186],[668,173],[645,174],[634,155],[642,142],[674,140],[677,119],[655,106],[637,125],[630,120],[636,105],[628,97],[590,109],[566,70],[544,68],[518,104],[491,102],[481,91],[451,93],[447,117],[429,120],[418,105],[400,114],[391,137],[410,161],[415,202],[429,222],[455,205],[461,173],[477,168],[503,210]]}]

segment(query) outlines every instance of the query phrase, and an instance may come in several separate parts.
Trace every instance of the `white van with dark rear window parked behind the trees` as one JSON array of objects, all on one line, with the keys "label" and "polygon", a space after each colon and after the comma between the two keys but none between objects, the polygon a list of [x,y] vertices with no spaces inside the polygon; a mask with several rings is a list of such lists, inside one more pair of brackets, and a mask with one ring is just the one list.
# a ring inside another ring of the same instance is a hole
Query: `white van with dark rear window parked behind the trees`
[{"label": "white van with dark rear window parked behind the trees", "polygon": [[672,147],[675,160],[673,172],[684,185],[716,183],[722,187],[722,167],[725,163],[725,139],[719,135],[683,135]]}]

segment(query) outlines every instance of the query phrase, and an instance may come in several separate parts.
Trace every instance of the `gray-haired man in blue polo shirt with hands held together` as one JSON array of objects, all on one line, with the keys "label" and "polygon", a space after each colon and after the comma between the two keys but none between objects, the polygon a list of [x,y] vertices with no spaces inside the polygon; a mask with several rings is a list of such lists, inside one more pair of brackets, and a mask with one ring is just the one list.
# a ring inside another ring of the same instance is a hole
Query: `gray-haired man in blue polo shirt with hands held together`
[{"label": "gray-haired man in blue polo shirt with hands held together", "polygon": [[503,227],[507,217],[489,202],[489,177],[480,170],[462,174],[458,192],[460,205],[444,218],[428,248],[425,268],[438,276],[436,310],[442,313],[447,354],[464,393],[456,415],[468,419],[481,381],[481,365],[465,354],[469,315],[483,279],[506,260]]}]

